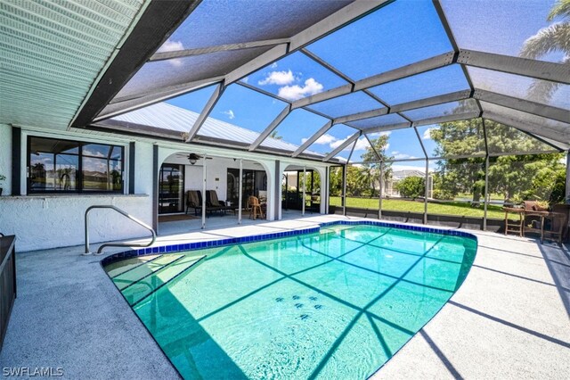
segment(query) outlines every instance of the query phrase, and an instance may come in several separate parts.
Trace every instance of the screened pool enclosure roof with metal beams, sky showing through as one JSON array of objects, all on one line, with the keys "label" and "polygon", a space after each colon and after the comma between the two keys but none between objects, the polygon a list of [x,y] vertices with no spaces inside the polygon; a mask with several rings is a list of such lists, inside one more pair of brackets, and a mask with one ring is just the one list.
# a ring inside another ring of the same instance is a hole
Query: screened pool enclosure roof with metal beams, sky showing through
[{"label": "screened pool enclosure roof with metal beams, sky showing through", "polygon": [[[554,5],[202,0],[71,126],[338,161],[381,133],[425,148],[422,129],[484,118],[567,149],[570,46],[546,35],[570,28],[570,10],[548,21]],[[230,111],[258,117],[224,135]]]}]

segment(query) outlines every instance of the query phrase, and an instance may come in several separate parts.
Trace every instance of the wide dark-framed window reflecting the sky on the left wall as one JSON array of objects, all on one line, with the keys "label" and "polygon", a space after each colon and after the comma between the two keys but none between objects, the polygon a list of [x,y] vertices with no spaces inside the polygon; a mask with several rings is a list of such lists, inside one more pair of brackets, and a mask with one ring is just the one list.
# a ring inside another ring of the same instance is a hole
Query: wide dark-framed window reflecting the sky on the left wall
[{"label": "wide dark-framed window reflecting the sky on the left wall", "polygon": [[28,137],[28,194],[122,193],[124,148]]}]

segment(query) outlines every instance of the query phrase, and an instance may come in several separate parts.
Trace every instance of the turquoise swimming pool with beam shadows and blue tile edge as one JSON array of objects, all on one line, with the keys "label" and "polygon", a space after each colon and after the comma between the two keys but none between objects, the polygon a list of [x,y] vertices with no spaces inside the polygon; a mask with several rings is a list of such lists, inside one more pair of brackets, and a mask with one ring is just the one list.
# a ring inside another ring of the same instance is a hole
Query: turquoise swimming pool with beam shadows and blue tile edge
[{"label": "turquoise swimming pool with beam shadows and blue tile edge", "polygon": [[104,268],[184,378],[358,379],[436,315],[475,254],[468,234],[356,224]]}]

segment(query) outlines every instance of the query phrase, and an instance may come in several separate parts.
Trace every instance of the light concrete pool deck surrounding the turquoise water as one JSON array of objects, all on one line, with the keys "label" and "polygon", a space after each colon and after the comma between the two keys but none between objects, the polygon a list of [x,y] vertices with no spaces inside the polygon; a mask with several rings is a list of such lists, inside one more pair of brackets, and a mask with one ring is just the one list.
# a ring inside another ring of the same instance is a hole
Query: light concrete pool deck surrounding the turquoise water
[{"label": "light concrete pool deck surrounding the turquoise water", "polygon": [[[256,235],[345,219],[308,216],[159,236],[158,244]],[[358,219],[358,218],[350,218]],[[450,302],[375,378],[566,378],[570,253],[479,231],[473,268]],[[18,298],[2,368],[62,368],[66,378],[178,378],[102,270],[75,246],[19,252]]]}]

